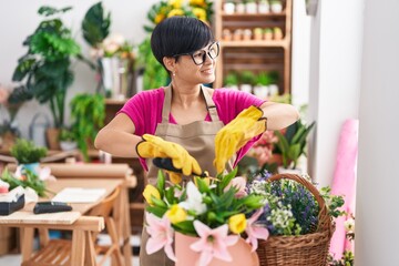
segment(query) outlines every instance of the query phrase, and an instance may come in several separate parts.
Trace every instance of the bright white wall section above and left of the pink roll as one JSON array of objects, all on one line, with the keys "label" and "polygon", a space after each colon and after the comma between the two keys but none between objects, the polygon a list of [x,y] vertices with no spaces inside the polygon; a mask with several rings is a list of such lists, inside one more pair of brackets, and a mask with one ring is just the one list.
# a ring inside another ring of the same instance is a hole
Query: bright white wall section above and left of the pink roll
[{"label": "bright white wall section above and left of the pink roll", "polygon": [[362,11],[362,0],[323,0],[311,21],[308,120],[316,131],[308,162],[321,185],[332,178],[344,121],[358,119]]}]

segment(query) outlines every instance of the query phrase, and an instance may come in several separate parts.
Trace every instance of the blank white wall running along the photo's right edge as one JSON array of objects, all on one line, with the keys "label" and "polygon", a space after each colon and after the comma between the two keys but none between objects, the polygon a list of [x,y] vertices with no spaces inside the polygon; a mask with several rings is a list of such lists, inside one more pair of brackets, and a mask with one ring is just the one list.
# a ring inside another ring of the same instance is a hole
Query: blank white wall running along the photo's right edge
[{"label": "blank white wall running along the photo's right edge", "polygon": [[399,1],[366,0],[356,265],[398,265]]}]

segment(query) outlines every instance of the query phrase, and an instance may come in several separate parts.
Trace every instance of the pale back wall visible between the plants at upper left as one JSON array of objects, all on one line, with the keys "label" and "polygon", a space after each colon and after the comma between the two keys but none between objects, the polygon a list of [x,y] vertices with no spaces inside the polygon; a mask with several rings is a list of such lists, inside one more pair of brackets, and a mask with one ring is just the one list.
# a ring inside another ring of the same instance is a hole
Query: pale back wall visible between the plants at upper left
[{"label": "pale back wall visible between the plants at upper left", "polygon": [[[17,60],[22,57],[27,49],[22,47],[22,41],[31,34],[42,17],[37,11],[43,6],[62,8],[73,7],[65,16],[63,21],[72,27],[73,34],[81,44],[82,53],[89,55],[89,47],[84,42],[81,33],[81,22],[88,9],[98,2],[98,0],[13,0],[1,1],[1,21],[0,21],[0,83],[10,84]],[[127,40],[139,44],[145,37],[143,24],[147,23],[146,13],[151,6],[157,0],[145,1],[122,1],[103,0],[105,10],[111,11],[111,32],[122,33]],[[69,99],[78,92],[94,92],[96,82],[95,74],[86,65],[78,62],[74,65],[75,81],[69,90]],[[69,110],[69,109],[68,109]],[[66,111],[66,114],[69,111]],[[51,117],[47,106],[39,106],[35,101],[27,102],[18,114],[19,127],[24,137],[28,137],[28,129],[32,116],[37,112],[43,112]]]}]

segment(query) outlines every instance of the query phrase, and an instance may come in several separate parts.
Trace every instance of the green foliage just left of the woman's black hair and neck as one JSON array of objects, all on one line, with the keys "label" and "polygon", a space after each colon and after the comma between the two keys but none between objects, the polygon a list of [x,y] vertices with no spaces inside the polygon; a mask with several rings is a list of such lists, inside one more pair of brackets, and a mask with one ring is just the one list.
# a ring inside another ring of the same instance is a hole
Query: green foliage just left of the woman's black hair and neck
[{"label": "green foliage just left of the woman's black hair and neck", "polygon": [[144,68],[143,74],[143,88],[144,90],[151,90],[160,86],[167,85],[170,76],[162,64],[155,59],[151,51],[150,38],[146,38],[139,45],[137,64]]}]

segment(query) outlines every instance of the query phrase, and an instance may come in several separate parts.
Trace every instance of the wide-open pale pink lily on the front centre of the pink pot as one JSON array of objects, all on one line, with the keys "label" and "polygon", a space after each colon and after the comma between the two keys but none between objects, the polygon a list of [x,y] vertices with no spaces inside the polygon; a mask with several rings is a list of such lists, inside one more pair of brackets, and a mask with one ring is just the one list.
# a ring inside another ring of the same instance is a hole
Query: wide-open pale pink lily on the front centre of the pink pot
[{"label": "wide-open pale pink lily on the front centre of the pink pot", "polygon": [[194,221],[194,227],[201,239],[193,243],[190,247],[194,252],[201,253],[200,266],[208,265],[213,257],[232,262],[227,247],[237,243],[238,235],[228,235],[228,226],[226,224],[212,229],[202,222]]}]

